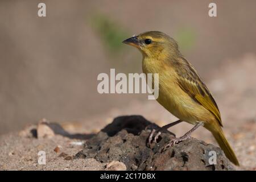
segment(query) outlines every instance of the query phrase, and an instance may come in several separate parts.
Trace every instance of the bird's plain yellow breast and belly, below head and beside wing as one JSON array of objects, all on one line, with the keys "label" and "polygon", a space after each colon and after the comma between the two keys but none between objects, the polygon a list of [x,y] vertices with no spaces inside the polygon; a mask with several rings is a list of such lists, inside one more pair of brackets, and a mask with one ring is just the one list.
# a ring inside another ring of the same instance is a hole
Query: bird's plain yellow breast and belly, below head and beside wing
[{"label": "bird's plain yellow breast and belly, below head and beside wing", "polygon": [[[175,117],[195,124],[209,119],[208,110],[195,102],[177,84],[177,73],[170,65],[161,60],[144,57],[142,61],[143,73],[159,73],[159,97],[157,101]],[[153,79],[154,80],[154,79]]]}]

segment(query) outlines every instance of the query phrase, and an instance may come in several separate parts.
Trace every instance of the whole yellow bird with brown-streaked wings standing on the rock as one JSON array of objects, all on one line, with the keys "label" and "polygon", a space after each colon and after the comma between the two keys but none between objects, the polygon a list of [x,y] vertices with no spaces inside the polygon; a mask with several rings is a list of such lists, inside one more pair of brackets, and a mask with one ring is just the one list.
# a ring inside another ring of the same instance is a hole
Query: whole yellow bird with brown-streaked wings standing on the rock
[{"label": "whole yellow bird with brown-streaked wings standing on the rock", "polygon": [[[163,32],[148,31],[126,39],[123,43],[137,47],[141,51],[144,73],[159,74],[157,101],[180,119],[163,126],[162,129],[168,129],[182,121],[195,125],[183,137],[172,139],[166,147],[189,138],[192,131],[204,126],[213,134],[227,158],[239,166],[236,155],[222,131],[220,111],[212,94],[195,68],[181,55],[176,41]],[[151,132],[149,142],[154,132]],[[160,131],[155,136],[155,142],[159,135]]]}]

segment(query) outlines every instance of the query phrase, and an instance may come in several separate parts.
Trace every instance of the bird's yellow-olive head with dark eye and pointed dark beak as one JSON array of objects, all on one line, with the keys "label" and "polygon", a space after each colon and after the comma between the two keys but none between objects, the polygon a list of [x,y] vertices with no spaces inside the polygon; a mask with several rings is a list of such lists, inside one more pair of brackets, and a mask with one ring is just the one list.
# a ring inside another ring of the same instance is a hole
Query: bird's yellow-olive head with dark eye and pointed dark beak
[{"label": "bird's yellow-olive head with dark eye and pointed dark beak", "polygon": [[177,43],[170,36],[159,31],[148,31],[123,41],[137,47],[143,56],[161,56],[161,54],[176,55],[179,53]]}]

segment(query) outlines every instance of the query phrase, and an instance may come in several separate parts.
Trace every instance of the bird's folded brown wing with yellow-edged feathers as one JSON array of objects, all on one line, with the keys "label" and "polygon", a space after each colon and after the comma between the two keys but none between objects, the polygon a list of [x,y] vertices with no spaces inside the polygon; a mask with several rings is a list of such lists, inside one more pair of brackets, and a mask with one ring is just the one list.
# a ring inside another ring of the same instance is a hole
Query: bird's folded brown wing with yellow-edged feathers
[{"label": "bird's folded brown wing with yellow-edged feathers", "polygon": [[195,68],[192,67],[188,61],[182,57],[176,64],[182,64],[185,69],[179,69],[179,65],[176,67],[177,75],[179,75],[177,83],[180,88],[184,90],[190,97],[196,102],[203,105],[205,109],[209,110],[218,123],[222,126],[220,111],[218,106],[209,92],[207,86],[201,80],[197,74]]}]

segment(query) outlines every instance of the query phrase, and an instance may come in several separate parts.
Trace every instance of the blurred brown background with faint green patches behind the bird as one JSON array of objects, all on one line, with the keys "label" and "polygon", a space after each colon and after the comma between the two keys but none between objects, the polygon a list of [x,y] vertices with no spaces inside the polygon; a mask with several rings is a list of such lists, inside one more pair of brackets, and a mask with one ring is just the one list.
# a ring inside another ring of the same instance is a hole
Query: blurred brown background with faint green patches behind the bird
[{"label": "blurred brown background with faint green patches behind the bird", "polygon": [[[38,17],[39,2],[46,3],[46,18]],[[97,92],[99,73],[141,72],[141,54],[121,42],[144,31],[174,37],[207,82],[225,73],[226,60],[238,65],[228,73],[237,73],[241,57],[256,53],[256,1],[214,1],[215,18],[208,16],[210,2],[1,0],[0,134],[40,118],[79,121],[131,100],[149,102],[144,94]]]}]

